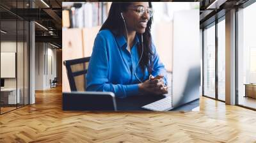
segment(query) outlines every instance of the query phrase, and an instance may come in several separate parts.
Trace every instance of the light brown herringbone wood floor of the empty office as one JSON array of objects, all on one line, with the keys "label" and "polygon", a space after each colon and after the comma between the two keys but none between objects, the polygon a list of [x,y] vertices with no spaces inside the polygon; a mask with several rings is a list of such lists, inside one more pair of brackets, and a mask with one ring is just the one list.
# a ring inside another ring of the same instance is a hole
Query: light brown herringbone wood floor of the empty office
[{"label": "light brown herringbone wood floor of the empty office", "polygon": [[256,112],[200,98],[200,112],[67,112],[61,88],[0,116],[0,142],[256,142]]}]

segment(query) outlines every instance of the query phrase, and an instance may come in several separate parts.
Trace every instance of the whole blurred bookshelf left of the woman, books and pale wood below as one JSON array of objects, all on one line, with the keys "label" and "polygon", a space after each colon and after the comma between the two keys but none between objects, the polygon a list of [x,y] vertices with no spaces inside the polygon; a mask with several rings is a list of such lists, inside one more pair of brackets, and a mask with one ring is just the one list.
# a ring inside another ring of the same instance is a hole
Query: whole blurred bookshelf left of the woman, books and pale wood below
[{"label": "whole blurred bookshelf left of the woman, books and pale wood below", "polygon": [[[62,11],[62,61],[90,57],[93,43],[102,23],[108,17],[111,3],[67,2]],[[62,90],[70,91],[65,66],[62,67]]]}]

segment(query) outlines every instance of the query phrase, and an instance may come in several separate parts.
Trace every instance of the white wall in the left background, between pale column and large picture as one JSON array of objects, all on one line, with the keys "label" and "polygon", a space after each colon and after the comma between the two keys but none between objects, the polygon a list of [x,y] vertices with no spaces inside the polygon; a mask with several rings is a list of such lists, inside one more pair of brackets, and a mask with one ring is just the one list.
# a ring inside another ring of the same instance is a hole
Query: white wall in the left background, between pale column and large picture
[{"label": "white wall in the left background, between pale column and large picture", "polygon": [[50,79],[56,77],[56,49],[49,43],[36,43],[35,77],[36,90],[51,88]]}]

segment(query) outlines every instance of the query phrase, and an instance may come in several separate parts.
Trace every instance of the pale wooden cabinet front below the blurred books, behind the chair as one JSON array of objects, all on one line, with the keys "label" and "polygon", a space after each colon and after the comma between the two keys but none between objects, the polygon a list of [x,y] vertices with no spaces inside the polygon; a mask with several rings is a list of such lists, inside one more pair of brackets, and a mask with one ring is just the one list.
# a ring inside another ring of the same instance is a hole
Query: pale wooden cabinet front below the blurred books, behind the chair
[{"label": "pale wooden cabinet front below the blurred books, behind the chair", "polygon": [[[72,28],[63,30],[62,37],[62,60],[77,59],[81,57],[90,57],[92,54],[93,43],[100,26],[90,28]],[[62,61],[62,63],[63,63]],[[62,67],[62,90],[70,91],[65,66]]]}]

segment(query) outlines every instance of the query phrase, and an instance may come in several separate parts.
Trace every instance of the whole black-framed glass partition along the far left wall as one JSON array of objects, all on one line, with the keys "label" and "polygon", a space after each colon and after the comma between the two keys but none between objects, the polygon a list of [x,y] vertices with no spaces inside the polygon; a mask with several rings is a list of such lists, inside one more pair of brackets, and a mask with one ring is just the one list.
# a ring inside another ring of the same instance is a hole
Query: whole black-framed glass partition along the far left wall
[{"label": "whole black-framed glass partition along the far left wall", "polygon": [[[27,8],[28,2],[0,1],[0,4],[17,10]],[[1,81],[4,81],[0,92],[0,114],[3,114],[29,103],[29,22],[3,8],[0,11],[0,71],[3,73]],[[4,60],[10,64],[4,65]]]}]

